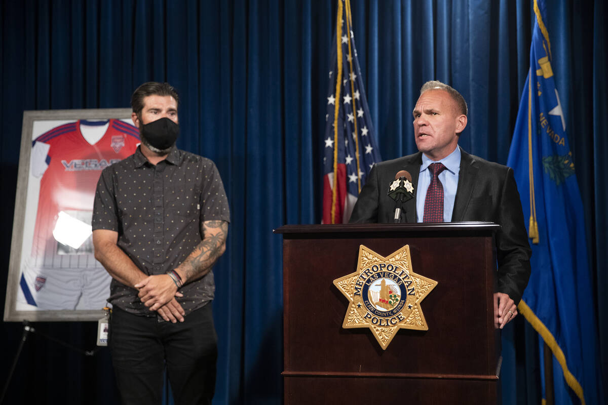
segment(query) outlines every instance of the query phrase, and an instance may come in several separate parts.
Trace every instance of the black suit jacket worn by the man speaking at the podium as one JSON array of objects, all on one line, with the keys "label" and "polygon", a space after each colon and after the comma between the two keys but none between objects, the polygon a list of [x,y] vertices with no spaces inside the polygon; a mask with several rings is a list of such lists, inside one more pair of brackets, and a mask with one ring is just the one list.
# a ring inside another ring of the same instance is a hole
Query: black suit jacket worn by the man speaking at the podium
[{"label": "black suit jacket worn by the man speaking at the podium", "polygon": [[[518,304],[530,278],[528,234],[513,169],[488,162],[460,149],[460,173],[452,222],[486,221],[501,226],[496,235],[498,291]],[[367,177],[350,217],[351,223],[393,222],[395,201],[387,196],[390,183],[400,170],[412,174],[414,190],[422,153],[387,160],[375,165]],[[416,222],[416,199],[404,203],[406,222]]]}]

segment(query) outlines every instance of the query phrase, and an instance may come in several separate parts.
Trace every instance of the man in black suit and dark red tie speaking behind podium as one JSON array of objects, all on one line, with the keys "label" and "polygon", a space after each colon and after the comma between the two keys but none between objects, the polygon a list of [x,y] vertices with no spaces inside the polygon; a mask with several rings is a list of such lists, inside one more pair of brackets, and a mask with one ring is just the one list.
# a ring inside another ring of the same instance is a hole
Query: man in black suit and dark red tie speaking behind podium
[{"label": "man in black suit and dark red tie speaking behind podium", "polygon": [[513,169],[458,146],[467,114],[457,90],[439,81],[425,83],[413,111],[420,152],[373,166],[350,222],[393,222],[396,206],[387,191],[395,174],[406,170],[412,174],[415,198],[402,204],[402,222],[498,223],[494,325],[502,328],[517,315],[530,278],[531,250]]}]

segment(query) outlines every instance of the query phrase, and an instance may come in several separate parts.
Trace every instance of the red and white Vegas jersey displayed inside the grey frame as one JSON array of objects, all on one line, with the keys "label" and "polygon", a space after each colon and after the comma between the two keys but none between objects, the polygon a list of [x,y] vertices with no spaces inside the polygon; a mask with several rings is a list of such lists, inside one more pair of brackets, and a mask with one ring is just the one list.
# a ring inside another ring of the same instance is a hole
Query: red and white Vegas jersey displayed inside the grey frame
[{"label": "red and white Vegas jersey displayed inside the grey frame", "polygon": [[[81,132],[86,126],[108,125],[93,145]],[[139,131],[120,120],[76,121],[45,132],[33,141],[30,174],[42,176],[32,259],[34,268],[101,267],[93,256],[92,237],[72,248],[54,237],[59,213],[91,225],[97,180],[102,170],[128,157],[139,145]]]}]

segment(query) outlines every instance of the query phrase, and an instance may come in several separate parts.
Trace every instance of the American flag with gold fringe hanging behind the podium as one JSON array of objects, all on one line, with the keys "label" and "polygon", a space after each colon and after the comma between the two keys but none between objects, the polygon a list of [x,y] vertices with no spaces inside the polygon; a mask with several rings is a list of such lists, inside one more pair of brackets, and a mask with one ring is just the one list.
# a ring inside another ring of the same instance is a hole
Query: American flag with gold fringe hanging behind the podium
[{"label": "American flag with gold fringe hanging behind the podium", "polygon": [[323,223],[348,222],[371,166],[381,161],[354,47],[350,0],[338,0],[337,9],[323,138]]}]

